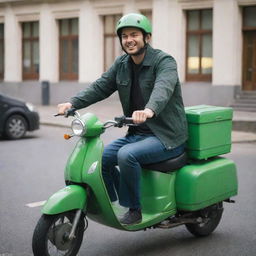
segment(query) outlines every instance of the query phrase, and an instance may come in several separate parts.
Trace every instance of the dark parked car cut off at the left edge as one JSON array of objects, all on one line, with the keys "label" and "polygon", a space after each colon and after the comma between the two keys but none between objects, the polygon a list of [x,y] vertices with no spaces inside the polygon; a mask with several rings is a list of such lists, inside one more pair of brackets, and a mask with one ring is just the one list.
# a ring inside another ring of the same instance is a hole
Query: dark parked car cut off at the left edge
[{"label": "dark parked car cut off at the left edge", "polygon": [[0,94],[0,135],[19,139],[39,129],[39,114],[30,103]]}]

